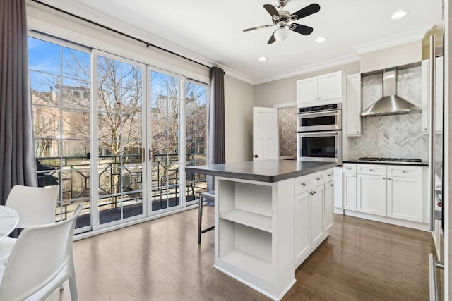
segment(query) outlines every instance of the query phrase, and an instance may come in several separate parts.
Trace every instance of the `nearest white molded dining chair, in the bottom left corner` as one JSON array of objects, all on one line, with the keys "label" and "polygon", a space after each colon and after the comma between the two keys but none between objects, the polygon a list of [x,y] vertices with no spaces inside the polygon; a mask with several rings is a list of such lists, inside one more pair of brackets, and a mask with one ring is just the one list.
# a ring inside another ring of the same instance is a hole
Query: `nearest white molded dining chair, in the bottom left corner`
[{"label": "nearest white molded dining chair, in the bottom left corner", "polygon": [[30,226],[20,233],[6,266],[0,269],[0,300],[44,300],[66,280],[71,300],[78,300],[73,231],[81,210],[78,204],[71,218]]}]

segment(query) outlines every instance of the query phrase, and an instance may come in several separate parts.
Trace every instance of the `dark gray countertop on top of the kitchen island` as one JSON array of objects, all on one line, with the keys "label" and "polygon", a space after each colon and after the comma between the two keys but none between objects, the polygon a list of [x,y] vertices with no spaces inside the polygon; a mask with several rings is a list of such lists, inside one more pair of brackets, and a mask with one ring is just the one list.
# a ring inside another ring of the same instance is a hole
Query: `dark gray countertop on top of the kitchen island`
[{"label": "dark gray countertop on top of the kitchen island", "polygon": [[289,178],[309,175],[336,166],[331,162],[260,160],[237,163],[186,166],[188,173],[202,173],[210,176],[222,176],[261,182],[278,182]]}]

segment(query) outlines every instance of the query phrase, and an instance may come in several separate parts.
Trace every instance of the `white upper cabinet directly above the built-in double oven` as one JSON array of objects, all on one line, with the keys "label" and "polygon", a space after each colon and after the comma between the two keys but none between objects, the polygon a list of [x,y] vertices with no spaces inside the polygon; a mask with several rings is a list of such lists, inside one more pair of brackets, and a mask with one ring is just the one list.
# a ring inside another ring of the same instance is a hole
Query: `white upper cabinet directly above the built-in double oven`
[{"label": "white upper cabinet directly above the built-in double oven", "polygon": [[344,85],[342,71],[297,80],[297,104],[342,102]]}]

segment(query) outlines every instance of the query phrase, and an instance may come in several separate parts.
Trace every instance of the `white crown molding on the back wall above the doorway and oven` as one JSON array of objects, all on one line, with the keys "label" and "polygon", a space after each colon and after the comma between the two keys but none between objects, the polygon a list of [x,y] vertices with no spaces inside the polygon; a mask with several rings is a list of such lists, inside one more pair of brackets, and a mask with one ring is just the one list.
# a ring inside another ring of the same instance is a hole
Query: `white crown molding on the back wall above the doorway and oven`
[{"label": "white crown molding on the back wall above the doorway and oven", "polygon": [[350,56],[342,56],[337,59],[331,59],[328,61],[323,61],[322,63],[316,63],[308,66],[304,66],[302,68],[292,69],[285,73],[280,73],[279,75],[272,76],[270,78],[264,78],[262,80],[256,80],[254,85],[260,85],[266,82],[273,82],[274,80],[282,80],[283,78],[290,78],[296,75],[302,75],[306,73],[311,73],[323,69],[333,68],[336,66],[345,65],[346,63],[355,63],[359,61],[359,56],[356,54],[352,54]]}]

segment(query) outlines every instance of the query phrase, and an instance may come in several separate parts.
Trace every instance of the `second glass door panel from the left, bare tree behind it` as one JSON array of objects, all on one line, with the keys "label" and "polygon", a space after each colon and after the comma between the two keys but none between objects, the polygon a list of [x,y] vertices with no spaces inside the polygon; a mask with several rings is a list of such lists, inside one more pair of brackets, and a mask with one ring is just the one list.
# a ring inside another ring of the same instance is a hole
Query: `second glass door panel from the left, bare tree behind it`
[{"label": "second glass door panel from the left, bare tree behind it", "polygon": [[97,56],[99,224],[143,214],[143,68]]}]

